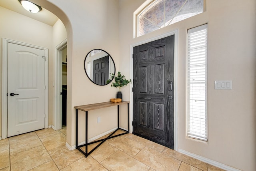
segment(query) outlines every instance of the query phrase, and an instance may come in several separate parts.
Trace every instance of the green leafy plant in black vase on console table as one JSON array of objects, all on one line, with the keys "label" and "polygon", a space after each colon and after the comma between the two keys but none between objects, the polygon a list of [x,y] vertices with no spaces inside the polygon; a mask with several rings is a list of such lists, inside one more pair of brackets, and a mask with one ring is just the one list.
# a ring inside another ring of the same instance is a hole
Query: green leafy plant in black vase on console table
[{"label": "green leafy plant in black vase on console table", "polygon": [[119,91],[116,94],[116,98],[120,98],[122,99],[122,92],[121,92],[121,87],[124,87],[125,85],[129,84],[130,82],[132,82],[132,80],[127,80],[125,78],[125,76],[122,76],[121,72],[117,72],[117,76],[115,76],[114,74],[112,74],[112,76],[110,77],[110,80],[107,80],[107,84],[111,82],[111,80],[115,80],[115,82],[113,82],[111,84],[111,87],[118,87]]}]

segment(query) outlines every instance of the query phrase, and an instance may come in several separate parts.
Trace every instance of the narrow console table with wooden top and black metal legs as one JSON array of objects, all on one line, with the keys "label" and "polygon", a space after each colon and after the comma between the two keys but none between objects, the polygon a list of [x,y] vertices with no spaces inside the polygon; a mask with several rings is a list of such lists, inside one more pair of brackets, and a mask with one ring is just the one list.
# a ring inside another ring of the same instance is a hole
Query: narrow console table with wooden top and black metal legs
[{"label": "narrow console table with wooden top and black metal legs", "polygon": [[[126,104],[126,103],[128,105],[128,108],[127,108],[128,131],[119,128],[119,105]],[[103,102],[103,103],[75,106],[74,108],[76,109],[76,149],[78,149],[81,153],[83,153],[85,155],[85,157],[88,157],[88,155],[90,155],[90,153],[92,153],[96,148],[98,148],[107,139],[114,138],[114,137],[129,133],[129,103],[130,103],[130,101],[121,101],[118,103],[113,103],[113,102],[108,101],[108,102]],[[93,141],[91,143],[88,143],[88,111],[100,109],[100,108],[104,108],[104,107],[111,107],[111,106],[117,106],[117,122],[118,122],[117,129],[104,139],[100,139],[98,141]],[[85,144],[84,145],[78,145],[78,110],[85,111]],[[121,134],[112,136],[118,129],[125,131],[125,133],[121,133]],[[93,144],[93,143],[98,143],[98,142],[100,142],[100,143],[96,147],[94,147],[94,149],[92,149],[91,151],[88,152],[88,145]],[[83,151],[81,149],[81,147],[84,147],[84,146],[85,146],[85,151]]]}]

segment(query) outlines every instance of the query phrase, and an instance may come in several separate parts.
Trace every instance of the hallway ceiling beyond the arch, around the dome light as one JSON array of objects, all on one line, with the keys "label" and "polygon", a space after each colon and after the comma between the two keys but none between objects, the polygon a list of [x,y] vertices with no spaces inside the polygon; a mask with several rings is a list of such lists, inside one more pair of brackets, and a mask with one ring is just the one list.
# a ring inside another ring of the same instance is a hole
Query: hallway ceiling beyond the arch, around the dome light
[{"label": "hallway ceiling beyond the arch, around the dome light", "polygon": [[0,6],[12,10],[14,12],[18,12],[24,16],[33,18],[34,20],[38,20],[50,26],[53,26],[55,22],[58,20],[58,17],[52,14],[52,12],[42,8],[42,10],[38,13],[31,13],[25,10],[18,0],[0,0]]}]

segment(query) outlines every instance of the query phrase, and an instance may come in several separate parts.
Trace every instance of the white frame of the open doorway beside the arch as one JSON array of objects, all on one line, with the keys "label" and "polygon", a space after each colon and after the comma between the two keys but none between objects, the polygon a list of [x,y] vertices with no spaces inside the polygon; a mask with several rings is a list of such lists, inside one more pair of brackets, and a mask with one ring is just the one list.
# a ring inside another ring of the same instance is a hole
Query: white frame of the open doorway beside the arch
[{"label": "white frame of the open doorway beside the arch", "polygon": [[[62,128],[62,50],[67,46],[67,39],[63,40],[55,48],[56,70],[55,70],[55,113],[54,113],[54,130]],[[67,64],[68,65],[68,64]]]}]

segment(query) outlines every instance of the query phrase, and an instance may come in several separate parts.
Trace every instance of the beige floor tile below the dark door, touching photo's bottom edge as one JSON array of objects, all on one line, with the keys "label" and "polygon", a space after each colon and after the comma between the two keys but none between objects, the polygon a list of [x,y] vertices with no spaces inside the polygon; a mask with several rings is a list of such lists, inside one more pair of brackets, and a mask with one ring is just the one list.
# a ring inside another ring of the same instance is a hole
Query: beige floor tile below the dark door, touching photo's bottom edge
[{"label": "beige floor tile below the dark door, touching photo's bottom edge", "polygon": [[149,147],[144,147],[134,158],[158,171],[177,171],[181,163]]}]

